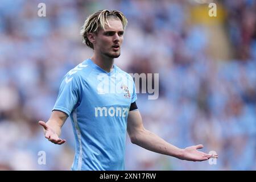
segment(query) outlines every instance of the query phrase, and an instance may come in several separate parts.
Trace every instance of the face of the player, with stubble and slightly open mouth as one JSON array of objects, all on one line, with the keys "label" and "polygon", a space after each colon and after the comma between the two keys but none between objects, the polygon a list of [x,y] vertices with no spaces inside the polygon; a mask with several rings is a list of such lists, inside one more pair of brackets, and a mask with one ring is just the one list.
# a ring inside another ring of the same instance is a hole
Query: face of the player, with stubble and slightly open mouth
[{"label": "face of the player, with stubble and slightly open mouth", "polygon": [[121,44],[123,42],[123,26],[121,20],[108,20],[109,25],[105,25],[105,31],[100,30],[95,36],[94,51],[117,58],[120,56]]}]

